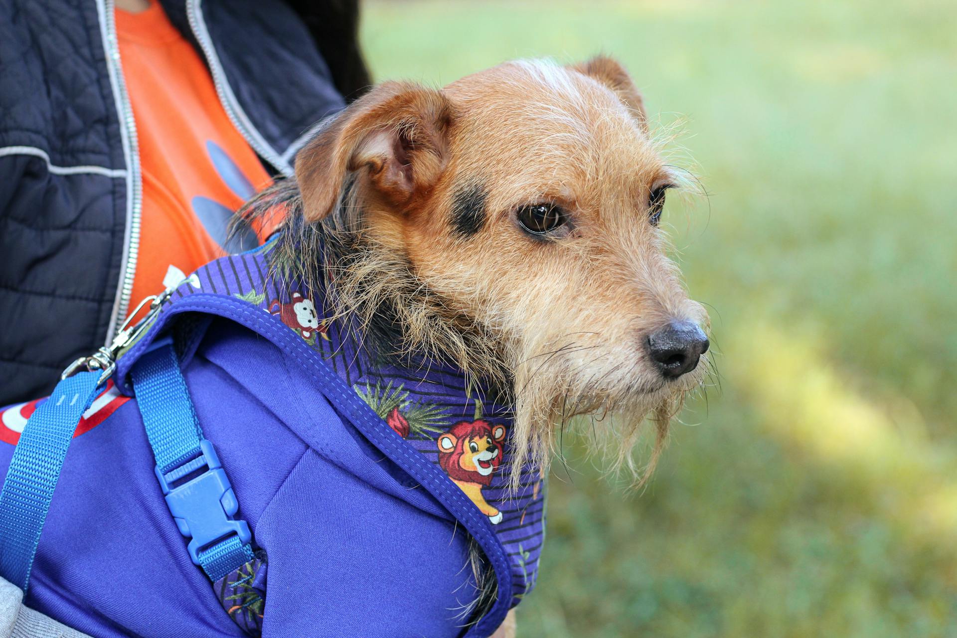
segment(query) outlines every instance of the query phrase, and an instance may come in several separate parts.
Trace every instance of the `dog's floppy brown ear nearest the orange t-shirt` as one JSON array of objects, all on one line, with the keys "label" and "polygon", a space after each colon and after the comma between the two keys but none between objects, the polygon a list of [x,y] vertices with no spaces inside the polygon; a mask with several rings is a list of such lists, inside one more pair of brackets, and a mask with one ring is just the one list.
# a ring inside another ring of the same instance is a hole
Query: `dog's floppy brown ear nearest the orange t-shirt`
[{"label": "dog's floppy brown ear nearest the orange t-shirt", "polygon": [[452,117],[441,91],[406,82],[385,82],[352,102],[296,157],[306,221],[332,210],[352,171],[365,171],[368,186],[396,207],[432,187],[448,160]]}]

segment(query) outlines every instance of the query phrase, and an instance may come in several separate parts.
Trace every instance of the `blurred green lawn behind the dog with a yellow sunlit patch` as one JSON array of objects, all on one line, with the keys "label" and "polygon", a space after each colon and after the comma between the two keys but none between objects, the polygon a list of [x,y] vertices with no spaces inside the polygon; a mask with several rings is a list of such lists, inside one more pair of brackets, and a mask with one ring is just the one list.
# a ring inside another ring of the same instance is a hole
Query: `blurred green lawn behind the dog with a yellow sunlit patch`
[{"label": "blurred green lawn behind the dog with a yellow sunlit patch", "polygon": [[[377,78],[617,56],[710,198],[666,217],[723,389],[652,486],[556,465],[548,636],[957,636],[957,7],[373,2]],[[694,159],[694,164],[691,163]]]}]

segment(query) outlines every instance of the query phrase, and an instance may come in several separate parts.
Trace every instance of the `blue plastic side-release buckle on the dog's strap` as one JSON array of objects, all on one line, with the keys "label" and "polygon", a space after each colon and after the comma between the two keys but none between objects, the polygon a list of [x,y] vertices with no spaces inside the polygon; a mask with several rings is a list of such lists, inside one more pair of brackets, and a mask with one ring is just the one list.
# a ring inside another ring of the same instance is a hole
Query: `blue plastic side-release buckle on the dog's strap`
[{"label": "blue plastic side-release buckle on the dog's strap", "polygon": [[[199,447],[202,454],[179,468],[167,473],[159,467],[155,469],[176,526],[191,539],[187,547],[189,558],[197,565],[201,564],[199,553],[222,540],[236,535],[247,544],[253,539],[246,521],[232,518],[239,502],[212,444],[203,439]],[[203,467],[209,469],[183,485],[170,487],[177,479]]]}]

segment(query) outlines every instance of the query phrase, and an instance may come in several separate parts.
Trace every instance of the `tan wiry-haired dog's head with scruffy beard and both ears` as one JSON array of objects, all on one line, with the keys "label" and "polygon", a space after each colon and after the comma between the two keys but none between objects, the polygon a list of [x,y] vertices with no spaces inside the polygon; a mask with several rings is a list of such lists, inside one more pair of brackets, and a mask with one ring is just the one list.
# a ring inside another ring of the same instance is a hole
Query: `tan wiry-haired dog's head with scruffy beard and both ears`
[{"label": "tan wiry-haired dog's head with scruffy beard and both ears", "polygon": [[466,366],[490,345],[513,378],[517,457],[544,463],[549,424],[596,411],[620,413],[630,443],[701,382],[707,316],[658,228],[679,175],[617,62],[381,84],[302,149],[296,176],[307,223],[377,255],[352,295],[406,277],[404,339]]}]

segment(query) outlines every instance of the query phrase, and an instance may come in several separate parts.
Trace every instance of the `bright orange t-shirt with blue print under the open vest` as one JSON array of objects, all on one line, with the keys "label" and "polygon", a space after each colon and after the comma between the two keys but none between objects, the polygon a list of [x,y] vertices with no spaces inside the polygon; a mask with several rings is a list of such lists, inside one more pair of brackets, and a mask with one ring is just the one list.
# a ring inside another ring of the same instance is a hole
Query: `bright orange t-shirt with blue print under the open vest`
[{"label": "bright orange t-shirt with blue print under the open vest", "polygon": [[[234,211],[270,177],[226,115],[205,63],[156,0],[140,13],[116,11],[116,24],[143,174],[129,312],[165,288],[170,266],[189,275],[226,254]],[[256,243],[250,233],[228,252]]]}]

